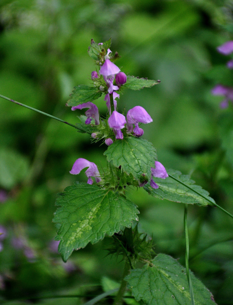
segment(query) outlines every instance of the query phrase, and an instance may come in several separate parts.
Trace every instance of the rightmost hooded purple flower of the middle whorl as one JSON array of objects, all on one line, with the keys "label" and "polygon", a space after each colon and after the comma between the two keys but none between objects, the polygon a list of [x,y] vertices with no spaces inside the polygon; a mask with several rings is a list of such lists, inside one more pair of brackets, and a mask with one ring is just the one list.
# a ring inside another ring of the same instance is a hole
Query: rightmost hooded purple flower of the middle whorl
[{"label": "rightmost hooded purple flower of the middle whorl", "polygon": [[[142,128],[139,128],[138,123],[150,123],[152,122],[152,118],[150,115],[146,112],[146,110],[141,106],[135,106],[132,109],[130,109],[127,113],[127,133],[131,133],[134,131],[134,134],[137,137],[140,137],[143,135],[144,131]],[[135,125],[135,128],[133,130],[133,124]]]}]

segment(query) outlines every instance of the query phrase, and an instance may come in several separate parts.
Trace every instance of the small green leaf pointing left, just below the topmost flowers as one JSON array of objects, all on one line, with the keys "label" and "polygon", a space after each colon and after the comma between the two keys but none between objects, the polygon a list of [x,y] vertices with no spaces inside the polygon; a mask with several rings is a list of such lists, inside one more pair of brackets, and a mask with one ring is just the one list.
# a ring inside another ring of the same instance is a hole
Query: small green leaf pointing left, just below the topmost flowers
[{"label": "small green leaf pointing left, just below the topmost flowers", "polygon": [[71,99],[68,100],[66,106],[77,106],[86,102],[92,102],[101,97],[102,91],[97,87],[90,87],[87,85],[78,85],[70,94]]}]

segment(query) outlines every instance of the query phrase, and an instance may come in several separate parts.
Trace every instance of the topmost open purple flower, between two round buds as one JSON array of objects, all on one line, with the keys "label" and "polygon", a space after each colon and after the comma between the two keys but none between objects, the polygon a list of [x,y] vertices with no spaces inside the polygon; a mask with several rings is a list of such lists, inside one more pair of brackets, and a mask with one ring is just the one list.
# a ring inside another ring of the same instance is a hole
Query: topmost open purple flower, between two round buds
[{"label": "topmost open purple flower, between two round buds", "polygon": [[108,87],[108,93],[113,93],[114,90],[118,90],[117,86],[113,85],[114,77],[117,73],[120,72],[118,66],[111,62],[108,58],[103,63],[102,67],[99,70],[99,74],[103,75],[105,83]]}]

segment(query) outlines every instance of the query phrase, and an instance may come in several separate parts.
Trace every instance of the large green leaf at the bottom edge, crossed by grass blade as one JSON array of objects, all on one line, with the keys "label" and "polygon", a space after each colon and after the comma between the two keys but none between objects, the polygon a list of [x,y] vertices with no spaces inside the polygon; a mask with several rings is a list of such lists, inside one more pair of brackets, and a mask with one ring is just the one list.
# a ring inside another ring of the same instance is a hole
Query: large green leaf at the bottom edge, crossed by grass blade
[{"label": "large green leaf at the bottom edge, crossed by grass blade", "polygon": [[[196,305],[216,305],[213,295],[190,271]],[[124,278],[137,301],[150,305],[191,304],[186,269],[177,260],[158,254],[151,264],[133,269]]]}]

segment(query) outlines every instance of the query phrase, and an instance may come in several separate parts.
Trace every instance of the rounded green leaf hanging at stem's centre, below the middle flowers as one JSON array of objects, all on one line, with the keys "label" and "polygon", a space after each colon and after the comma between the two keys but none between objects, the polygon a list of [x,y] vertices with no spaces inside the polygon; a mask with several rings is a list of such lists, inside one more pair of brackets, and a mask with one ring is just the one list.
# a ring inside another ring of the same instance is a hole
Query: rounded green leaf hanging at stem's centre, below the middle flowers
[{"label": "rounded green leaf hanging at stem's centre, below the middle flowers", "polygon": [[[157,160],[156,149],[152,143],[135,137],[124,137],[116,140],[104,152],[107,160],[112,161],[115,167],[119,167],[135,179],[150,179],[151,167]],[[142,175],[143,174],[143,175]],[[146,175],[146,176],[145,176]]]}]

